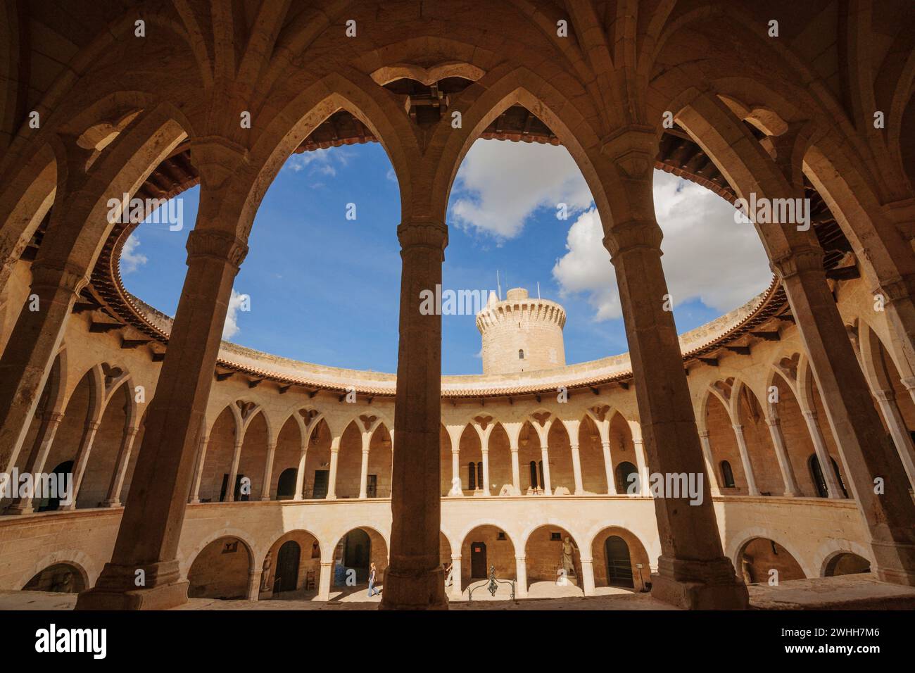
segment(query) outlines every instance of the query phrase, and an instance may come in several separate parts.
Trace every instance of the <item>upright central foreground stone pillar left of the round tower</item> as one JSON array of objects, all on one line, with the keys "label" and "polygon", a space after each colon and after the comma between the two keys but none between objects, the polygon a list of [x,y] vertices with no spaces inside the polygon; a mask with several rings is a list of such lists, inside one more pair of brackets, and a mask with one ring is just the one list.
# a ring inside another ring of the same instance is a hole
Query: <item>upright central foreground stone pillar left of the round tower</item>
[{"label": "upright central foreground stone pillar left of the round tower", "polygon": [[393,453],[391,564],[381,607],[447,608],[438,557],[442,319],[441,307],[424,310],[422,302],[441,285],[447,227],[414,220],[401,223],[397,236],[403,267],[394,427],[400,450]]}]

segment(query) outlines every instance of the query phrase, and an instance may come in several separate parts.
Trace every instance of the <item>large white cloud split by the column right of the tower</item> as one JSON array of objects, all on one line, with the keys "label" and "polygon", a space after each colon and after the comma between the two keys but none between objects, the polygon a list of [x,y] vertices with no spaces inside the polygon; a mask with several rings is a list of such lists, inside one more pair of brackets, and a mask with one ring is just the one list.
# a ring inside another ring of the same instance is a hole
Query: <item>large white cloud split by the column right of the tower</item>
[{"label": "large white cloud split by the column right of the tower", "polygon": [[[735,223],[733,207],[713,192],[655,171],[654,209],[664,233],[662,265],[674,306],[699,299],[726,312],[770,283],[769,260],[759,234],[750,224]],[[596,320],[622,315],[603,238],[597,212],[582,213],[569,229],[568,252],[553,267],[562,293],[585,293]]]}]

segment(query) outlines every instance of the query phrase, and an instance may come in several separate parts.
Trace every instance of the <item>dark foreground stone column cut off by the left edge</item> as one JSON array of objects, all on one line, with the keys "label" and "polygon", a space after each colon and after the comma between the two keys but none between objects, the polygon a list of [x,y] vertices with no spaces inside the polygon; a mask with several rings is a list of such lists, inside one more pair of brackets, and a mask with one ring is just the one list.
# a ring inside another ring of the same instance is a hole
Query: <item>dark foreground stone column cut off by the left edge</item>
[{"label": "dark foreground stone column cut off by the left edge", "polygon": [[16,465],[70,309],[86,285],[84,269],[42,260],[40,254],[31,272],[29,297],[0,357],[0,472]]}]

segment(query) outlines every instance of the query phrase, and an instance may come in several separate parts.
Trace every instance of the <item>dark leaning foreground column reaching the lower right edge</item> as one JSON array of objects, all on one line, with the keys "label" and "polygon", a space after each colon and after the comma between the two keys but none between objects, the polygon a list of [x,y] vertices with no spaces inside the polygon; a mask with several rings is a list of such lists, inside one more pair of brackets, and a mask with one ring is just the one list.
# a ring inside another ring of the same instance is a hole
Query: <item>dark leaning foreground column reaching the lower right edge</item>
[{"label": "dark leaning foreground column reaching the lower right edge", "polygon": [[[818,245],[795,249],[773,260],[772,266],[784,285],[850,488],[867,522],[875,577],[915,585],[915,503],[909,480],[885,434],[826,283],[823,250]],[[822,467],[824,474],[833,472],[831,461]],[[874,493],[877,478],[884,480],[882,494]]]}]

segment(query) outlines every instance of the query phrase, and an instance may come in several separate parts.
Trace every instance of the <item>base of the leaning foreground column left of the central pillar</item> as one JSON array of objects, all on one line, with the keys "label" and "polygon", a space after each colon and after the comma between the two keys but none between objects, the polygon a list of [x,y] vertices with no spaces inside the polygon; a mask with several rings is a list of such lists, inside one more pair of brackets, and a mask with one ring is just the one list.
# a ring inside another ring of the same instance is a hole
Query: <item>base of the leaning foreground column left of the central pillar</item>
[{"label": "base of the leaning foreground column left of the central pillar", "polygon": [[[136,570],[145,571],[147,586],[135,585]],[[181,580],[178,561],[128,568],[106,563],[95,586],[82,592],[76,610],[168,610],[188,602],[190,582]]]}]

